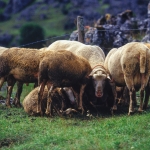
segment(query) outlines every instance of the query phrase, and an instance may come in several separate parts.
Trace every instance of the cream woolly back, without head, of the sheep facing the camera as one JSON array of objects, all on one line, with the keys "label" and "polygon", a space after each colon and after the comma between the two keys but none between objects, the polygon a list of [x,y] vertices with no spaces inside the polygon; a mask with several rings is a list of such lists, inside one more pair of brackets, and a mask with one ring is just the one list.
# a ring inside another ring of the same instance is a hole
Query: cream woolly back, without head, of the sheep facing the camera
[{"label": "cream woolly back, without head, of the sheep facing the camera", "polygon": [[87,59],[92,68],[99,63],[103,63],[105,59],[105,54],[100,47],[96,45],[85,45],[78,41],[58,40],[52,43],[48,49],[54,51],[65,49],[71,51]]}]

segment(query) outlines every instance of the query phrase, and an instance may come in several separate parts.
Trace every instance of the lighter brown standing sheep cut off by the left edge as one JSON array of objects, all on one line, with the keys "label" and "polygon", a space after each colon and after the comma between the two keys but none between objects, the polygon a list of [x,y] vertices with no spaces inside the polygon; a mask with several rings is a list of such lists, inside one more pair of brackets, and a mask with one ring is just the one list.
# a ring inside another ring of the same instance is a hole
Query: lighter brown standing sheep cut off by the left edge
[{"label": "lighter brown standing sheep cut off by the left edge", "polygon": [[[23,83],[35,83],[38,81],[39,63],[44,57],[44,51],[46,51],[44,48],[37,50],[13,47],[0,55],[0,88],[7,81],[7,107],[11,107],[10,96],[16,81],[19,82],[19,87],[22,87]],[[21,90],[17,93],[19,98]],[[15,101],[20,103],[18,99]]]}]

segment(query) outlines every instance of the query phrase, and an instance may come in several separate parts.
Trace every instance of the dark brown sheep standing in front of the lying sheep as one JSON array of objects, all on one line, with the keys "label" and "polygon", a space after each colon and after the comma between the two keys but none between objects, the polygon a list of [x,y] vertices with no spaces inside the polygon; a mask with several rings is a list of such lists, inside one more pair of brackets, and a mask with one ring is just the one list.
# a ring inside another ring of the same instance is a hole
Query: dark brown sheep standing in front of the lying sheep
[{"label": "dark brown sheep standing in front of the lying sheep", "polygon": [[46,114],[51,116],[51,96],[57,87],[72,87],[76,93],[78,109],[84,112],[82,96],[89,80],[92,68],[89,62],[80,56],[67,50],[47,51],[39,65],[38,76],[38,107],[37,113],[41,113],[41,100],[45,85],[48,87],[48,100]]}]

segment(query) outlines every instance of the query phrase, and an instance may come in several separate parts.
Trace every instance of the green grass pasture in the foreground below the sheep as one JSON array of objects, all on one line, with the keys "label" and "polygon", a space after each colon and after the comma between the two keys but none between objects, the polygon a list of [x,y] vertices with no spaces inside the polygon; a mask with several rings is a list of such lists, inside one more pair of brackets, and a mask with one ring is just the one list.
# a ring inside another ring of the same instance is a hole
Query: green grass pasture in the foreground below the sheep
[{"label": "green grass pasture in the foreground below the sheep", "polygon": [[23,108],[0,105],[0,149],[150,149],[150,107],[142,114],[128,116],[127,112],[128,107],[120,106],[114,116],[101,109],[98,116],[48,118],[31,117]]}]

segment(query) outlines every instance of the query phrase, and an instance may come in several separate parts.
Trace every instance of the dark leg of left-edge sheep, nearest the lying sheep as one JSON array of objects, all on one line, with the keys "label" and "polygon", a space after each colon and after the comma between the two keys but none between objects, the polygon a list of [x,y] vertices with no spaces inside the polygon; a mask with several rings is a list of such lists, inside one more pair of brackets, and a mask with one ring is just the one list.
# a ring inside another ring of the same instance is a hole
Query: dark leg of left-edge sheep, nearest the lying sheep
[{"label": "dark leg of left-edge sheep, nearest the lying sheep", "polygon": [[14,101],[13,101],[13,104],[17,107],[21,107],[20,96],[22,93],[22,87],[23,87],[23,83],[17,82],[17,92],[16,92],[16,96],[15,96]]}]

